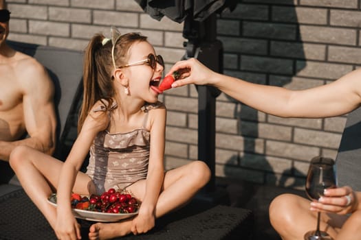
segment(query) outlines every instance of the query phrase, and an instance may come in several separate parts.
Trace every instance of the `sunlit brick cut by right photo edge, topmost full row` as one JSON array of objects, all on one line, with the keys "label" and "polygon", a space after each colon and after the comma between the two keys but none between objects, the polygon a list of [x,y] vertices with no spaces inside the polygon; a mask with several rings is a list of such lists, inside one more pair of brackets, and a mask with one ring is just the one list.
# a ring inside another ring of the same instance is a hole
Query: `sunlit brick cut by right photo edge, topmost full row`
[{"label": "sunlit brick cut by right photo edge, topmost full row", "polygon": [[360,27],[360,11],[330,10],[330,23],[334,26]]}]

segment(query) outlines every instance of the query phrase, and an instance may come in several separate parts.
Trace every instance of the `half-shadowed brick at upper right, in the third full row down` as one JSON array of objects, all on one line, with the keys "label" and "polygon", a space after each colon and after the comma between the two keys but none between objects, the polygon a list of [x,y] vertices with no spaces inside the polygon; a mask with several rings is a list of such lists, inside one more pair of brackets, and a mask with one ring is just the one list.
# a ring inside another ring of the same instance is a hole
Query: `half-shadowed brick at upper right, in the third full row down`
[{"label": "half-shadowed brick at upper right, in the third full row down", "polygon": [[326,46],[310,43],[286,43],[271,41],[271,56],[325,60]]}]

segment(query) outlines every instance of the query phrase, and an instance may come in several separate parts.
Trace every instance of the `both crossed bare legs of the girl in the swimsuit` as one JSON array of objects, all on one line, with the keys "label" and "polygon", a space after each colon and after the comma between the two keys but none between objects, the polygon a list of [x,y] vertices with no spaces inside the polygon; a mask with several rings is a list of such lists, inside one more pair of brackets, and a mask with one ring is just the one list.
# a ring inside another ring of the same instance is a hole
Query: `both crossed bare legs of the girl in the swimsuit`
[{"label": "both crossed bare legs of the girl in the swimsuit", "polygon": [[[56,208],[47,202],[47,197],[58,186],[63,162],[30,147],[19,146],[12,151],[10,165],[14,169],[25,192],[54,229]],[[210,179],[210,170],[202,161],[193,161],[182,167],[166,171],[160,196],[155,208],[155,217],[161,217],[184,206]],[[146,189],[146,180],[131,185],[128,190],[140,201]],[[93,181],[87,174],[78,172],[73,191],[83,195],[96,193]],[[132,219],[113,224],[93,224],[89,239],[111,239],[131,233]]]}]

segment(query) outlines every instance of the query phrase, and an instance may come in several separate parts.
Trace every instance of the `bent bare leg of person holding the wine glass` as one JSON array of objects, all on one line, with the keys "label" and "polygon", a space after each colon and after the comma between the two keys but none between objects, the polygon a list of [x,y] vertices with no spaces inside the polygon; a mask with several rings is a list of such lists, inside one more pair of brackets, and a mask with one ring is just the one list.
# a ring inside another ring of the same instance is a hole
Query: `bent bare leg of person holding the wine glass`
[{"label": "bent bare leg of person holding the wine glass", "polygon": [[[274,198],[270,204],[270,221],[282,239],[304,239],[310,230],[316,230],[317,213],[310,211],[309,200],[293,194],[283,194]],[[320,230],[326,231],[333,239],[339,230],[340,217],[322,213]]]}]

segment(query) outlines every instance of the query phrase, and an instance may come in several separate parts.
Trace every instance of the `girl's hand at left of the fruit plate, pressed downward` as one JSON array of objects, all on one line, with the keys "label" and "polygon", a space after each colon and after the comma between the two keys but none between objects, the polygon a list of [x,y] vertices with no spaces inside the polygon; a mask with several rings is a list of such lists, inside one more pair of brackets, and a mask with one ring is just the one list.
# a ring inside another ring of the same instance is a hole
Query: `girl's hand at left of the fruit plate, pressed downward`
[{"label": "girl's hand at left of the fruit plate, pressed downward", "polygon": [[65,214],[58,214],[56,219],[55,234],[61,240],[76,240],[81,239],[80,225],[76,221],[72,212]]}]

